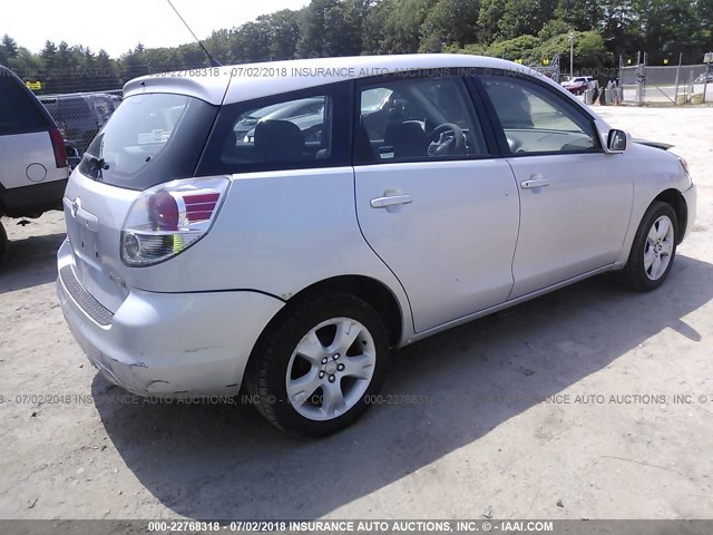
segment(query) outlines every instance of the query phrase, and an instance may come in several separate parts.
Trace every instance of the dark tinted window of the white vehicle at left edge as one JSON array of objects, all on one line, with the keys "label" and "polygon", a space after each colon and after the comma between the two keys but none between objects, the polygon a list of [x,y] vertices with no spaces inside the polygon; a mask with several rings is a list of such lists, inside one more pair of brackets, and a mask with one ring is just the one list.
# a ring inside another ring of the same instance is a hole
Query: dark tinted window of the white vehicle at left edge
[{"label": "dark tinted window of the white vehicle at left edge", "polygon": [[0,136],[47,130],[49,125],[21,81],[0,70]]}]

